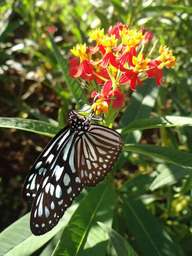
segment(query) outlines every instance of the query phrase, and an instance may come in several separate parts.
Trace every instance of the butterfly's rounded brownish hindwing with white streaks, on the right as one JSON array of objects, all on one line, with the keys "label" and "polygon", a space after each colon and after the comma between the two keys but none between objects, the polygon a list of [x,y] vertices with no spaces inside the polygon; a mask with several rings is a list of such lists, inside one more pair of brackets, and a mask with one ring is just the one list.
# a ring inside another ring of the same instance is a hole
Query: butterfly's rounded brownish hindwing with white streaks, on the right
[{"label": "butterfly's rounded brownish hindwing with white streaks, on the right", "polygon": [[121,134],[103,125],[90,125],[75,142],[79,177],[84,186],[94,187],[111,172],[122,151]]}]

